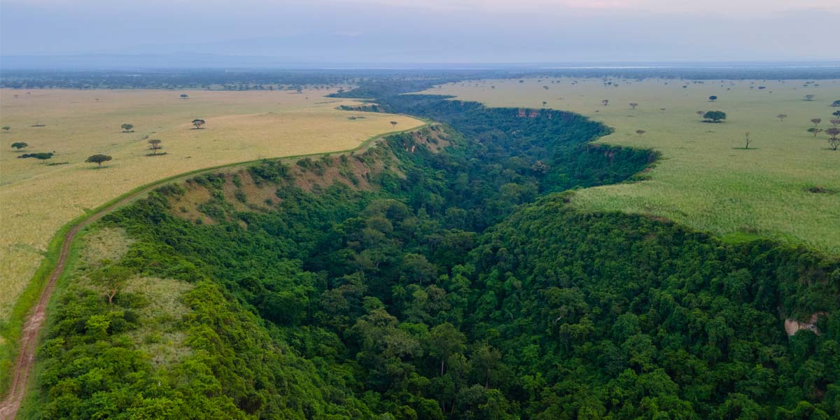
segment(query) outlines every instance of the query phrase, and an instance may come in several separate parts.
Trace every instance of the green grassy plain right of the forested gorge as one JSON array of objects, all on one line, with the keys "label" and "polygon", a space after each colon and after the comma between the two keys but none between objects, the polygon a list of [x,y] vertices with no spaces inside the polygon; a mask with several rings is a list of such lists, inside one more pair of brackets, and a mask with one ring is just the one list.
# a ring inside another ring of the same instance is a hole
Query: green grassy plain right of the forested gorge
[{"label": "green grassy plain right of the forested gorge", "polygon": [[[581,113],[615,129],[601,143],[662,153],[647,181],[575,194],[583,210],[654,215],[726,240],[769,236],[840,255],[840,150],[828,150],[827,135],[806,132],[811,118],[831,127],[840,81],[610,81],[618,86],[546,78],[469,81],[427,92]],[[709,110],[726,112],[726,122],[703,123],[696,111]],[[779,114],[787,117],[780,121]],[[746,132],[753,139],[748,150]]]}]

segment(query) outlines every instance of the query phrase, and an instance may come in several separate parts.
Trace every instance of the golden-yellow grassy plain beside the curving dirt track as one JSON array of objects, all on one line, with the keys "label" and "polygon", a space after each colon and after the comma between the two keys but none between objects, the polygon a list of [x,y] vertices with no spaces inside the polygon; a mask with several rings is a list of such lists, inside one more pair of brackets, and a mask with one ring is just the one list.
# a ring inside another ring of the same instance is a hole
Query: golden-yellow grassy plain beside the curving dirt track
[{"label": "golden-yellow grassy plain beside the curving dirt track", "polygon": [[[181,99],[181,93],[189,98]],[[391,121],[396,129],[422,124],[404,116],[339,111],[339,105],[354,102],[323,97],[327,93],[0,90],[0,126],[11,128],[0,133],[0,323],[40,264],[50,237],[87,209],[186,171],[347,150],[394,130]],[[194,118],[207,124],[192,129]],[[123,123],[134,124],[134,132],[123,133]],[[161,139],[166,155],[147,156],[148,139]],[[15,152],[13,142],[29,147]],[[18,159],[25,152],[52,151],[45,162]],[[84,163],[97,153],[113,160],[102,169]]]}]

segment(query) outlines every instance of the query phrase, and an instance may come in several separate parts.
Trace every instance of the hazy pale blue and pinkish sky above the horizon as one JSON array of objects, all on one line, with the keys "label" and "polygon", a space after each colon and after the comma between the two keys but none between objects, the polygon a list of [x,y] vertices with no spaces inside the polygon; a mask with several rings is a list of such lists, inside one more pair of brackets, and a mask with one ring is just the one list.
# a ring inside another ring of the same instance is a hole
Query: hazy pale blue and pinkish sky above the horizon
[{"label": "hazy pale blue and pinkish sky above the horizon", "polygon": [[0,0],[0,55],[259,56],[290,64],[840,60],[837,5]]}]

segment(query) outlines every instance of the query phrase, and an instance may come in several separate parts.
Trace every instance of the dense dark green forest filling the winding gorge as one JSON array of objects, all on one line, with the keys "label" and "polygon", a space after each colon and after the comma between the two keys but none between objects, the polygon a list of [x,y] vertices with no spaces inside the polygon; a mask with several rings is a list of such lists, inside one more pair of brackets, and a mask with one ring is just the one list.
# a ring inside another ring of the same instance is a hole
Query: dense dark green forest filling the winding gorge
[{"label": "dense dark green forest filling the winding gorge", "polygon": [[[388,89],[381,107],[446,126],[199,176],[103,220],[134,242],[60,295],[29,416],[840,417],[837,260],[578,213],[566,190],[655,156],[589,144],[606,128],[575,114]],[[303,186],[330,170],[350,182]],[[196,189],[212,223],[177,208]],[[151,323],[132,276],[191,285],[186,310]],[[153,363],[134,332],[156,327],[188,350]]]}]

